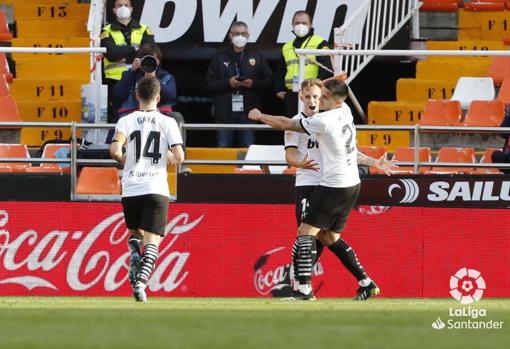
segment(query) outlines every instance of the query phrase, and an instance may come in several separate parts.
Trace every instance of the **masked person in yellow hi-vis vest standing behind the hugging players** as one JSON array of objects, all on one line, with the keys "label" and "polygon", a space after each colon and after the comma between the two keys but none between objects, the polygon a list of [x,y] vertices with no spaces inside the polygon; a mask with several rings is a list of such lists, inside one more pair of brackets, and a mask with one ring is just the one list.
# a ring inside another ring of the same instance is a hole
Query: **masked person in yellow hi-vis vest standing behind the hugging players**
[{"label": "masked person in yellow hi-vis vest standing behind the hugging players", "polygon": [[[299,58],[296,55],[296,49],[331,48],[324,38],[314,34],[312,17],[307,11],[297,11],[294,14],[292,28],[296,38],[283,45],[282,56],[275,77],[276,96],[285,102],[285,115],[289,118],[298,112],[300,83]],[[305,80],[317,78],[324,80],[333,75],[329,56],[310,55],[308,58],[305,65]],[[321,65],[327,67],[329,71]]]}]

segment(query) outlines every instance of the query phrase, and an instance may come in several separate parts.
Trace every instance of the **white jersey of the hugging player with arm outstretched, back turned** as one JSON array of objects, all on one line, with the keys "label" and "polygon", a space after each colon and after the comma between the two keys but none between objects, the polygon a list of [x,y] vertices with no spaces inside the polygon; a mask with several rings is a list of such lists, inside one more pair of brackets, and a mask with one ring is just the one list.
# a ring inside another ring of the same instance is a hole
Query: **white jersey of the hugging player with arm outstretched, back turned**
[{"label": "white jersey of the hugging player with arm outstretched, back turned", "polygon": [[320,185],[347,188],[360,183],[356,128],[347,104],[300,122],[305,132],[319,141],[323,165]]}]

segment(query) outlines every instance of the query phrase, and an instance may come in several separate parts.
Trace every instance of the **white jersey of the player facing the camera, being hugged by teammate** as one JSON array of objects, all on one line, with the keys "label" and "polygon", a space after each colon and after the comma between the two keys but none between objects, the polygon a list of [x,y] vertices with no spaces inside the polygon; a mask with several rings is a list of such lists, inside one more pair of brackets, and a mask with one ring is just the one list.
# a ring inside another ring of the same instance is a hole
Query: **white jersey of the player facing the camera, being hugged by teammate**
[{"label": "white jersey of the player facing the camera, being hugged by teammate", "polygon": [[[301,120],[308,118],[304,114],[297,114],[292,119]],[[322,171],[322,157],[319,151],[319,142],[314,136],[306,133],[285,131],[285,149],[296,148],[298,159],[304,159],[308,154],[308,158],[314,160]],[[319,185],[322,172],[298,168],[296,171],[296,187],[305,185]]]}]

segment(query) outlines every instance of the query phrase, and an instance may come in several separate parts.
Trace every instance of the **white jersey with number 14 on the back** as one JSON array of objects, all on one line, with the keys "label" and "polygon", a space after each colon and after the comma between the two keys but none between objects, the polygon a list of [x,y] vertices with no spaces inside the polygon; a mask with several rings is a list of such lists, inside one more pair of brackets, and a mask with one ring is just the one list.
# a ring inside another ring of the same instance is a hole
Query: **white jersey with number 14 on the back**
[{"label": "white jersey with number 14 on the back", "polygon": [[122,117],[115,131],[127,138],[122,196],[170,196],[167,151],[182,144],[177,122],[157,111],[135,111]]}]

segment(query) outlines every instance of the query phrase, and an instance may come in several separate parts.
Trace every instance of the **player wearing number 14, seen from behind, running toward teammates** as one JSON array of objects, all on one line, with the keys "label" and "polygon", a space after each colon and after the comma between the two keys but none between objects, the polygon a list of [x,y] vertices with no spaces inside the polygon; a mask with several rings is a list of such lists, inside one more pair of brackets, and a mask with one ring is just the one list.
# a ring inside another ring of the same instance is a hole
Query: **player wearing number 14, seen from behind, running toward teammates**
[{"label": "player wearing number 14, seen from behind, running toward teammates", "polygon": [[110,146],[112,158],[124,165],[122,207],[130,232],[129,279],[133,296],[139,302],[147,301],[145,288],[165,234],[170,196],[167,166],[184,161],[177,123],[156,111],[159,92],[160,84],[154,77],[138,82],[136,98],[140,109],[117,122]]}]

